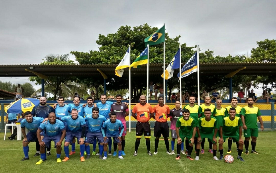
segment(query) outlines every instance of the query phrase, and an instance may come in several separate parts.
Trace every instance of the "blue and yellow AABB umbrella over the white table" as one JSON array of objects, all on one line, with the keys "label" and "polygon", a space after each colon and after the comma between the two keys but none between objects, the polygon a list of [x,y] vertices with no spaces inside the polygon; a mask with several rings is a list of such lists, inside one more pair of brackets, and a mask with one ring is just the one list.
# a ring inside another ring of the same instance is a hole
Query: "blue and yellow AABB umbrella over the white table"
[{"label": "blue and yellow AABB umbrella over the white table", "polygon": [[21,98],[12,102],[5,108],[6,113],[20,114],[21,112],[32,111],[33,107],[39,104],[37,98]]}]

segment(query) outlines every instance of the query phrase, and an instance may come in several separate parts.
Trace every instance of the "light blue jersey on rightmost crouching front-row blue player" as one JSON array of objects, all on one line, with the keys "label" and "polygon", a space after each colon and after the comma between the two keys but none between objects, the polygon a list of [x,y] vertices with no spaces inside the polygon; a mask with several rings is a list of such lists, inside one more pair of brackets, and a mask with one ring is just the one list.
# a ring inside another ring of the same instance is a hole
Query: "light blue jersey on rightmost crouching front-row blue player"
[{"label": "light blue jersey on rightmost crouching front-row blue player", "polygon": [[115,123],[110,122],[110,120],[105,121],[102,128],[105,130],[106,137],[117,137],[120,134],[119,127],[124,128],[124,125],[116,119]]}]

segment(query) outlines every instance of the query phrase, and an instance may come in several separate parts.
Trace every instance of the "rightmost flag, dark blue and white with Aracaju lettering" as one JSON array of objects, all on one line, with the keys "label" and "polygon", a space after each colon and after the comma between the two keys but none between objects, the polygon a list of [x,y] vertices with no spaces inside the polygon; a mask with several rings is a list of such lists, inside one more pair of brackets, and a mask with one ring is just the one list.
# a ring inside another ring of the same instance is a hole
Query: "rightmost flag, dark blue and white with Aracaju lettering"
[{"label": "rightmost flag, dark blue and white with Aracaju lettering", "polygon": [[[181,78],[189,76],[193,72],[197,72],[197,52],[189,59],[189,61],[181,69]],[[177,74],[179,78],[179,73]],[[179,78],[180,79],[180,78]]]}]

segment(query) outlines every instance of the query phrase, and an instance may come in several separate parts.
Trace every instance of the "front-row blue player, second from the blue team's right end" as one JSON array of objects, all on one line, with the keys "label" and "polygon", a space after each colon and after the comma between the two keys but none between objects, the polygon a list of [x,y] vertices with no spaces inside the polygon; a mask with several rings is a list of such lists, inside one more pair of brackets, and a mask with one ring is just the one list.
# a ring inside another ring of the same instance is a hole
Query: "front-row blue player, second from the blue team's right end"
[{"label": "front-row blue player, second from the blue team's right end", "polygon": [[84,145],[85,150],[87,152],[86,159],[90,158],[90,146],[89,144],[93,144],[94,140],[98,140],[100,143],[99,147],[99,159],[102,159],[103,153],[103,135],[102,135],[102,125],[107,119],[99,115],[99,108],[94,107],[92,108],[92,115],[87,115],[85,117],[85,121],[88,122],[88,132],[86,134]]}]

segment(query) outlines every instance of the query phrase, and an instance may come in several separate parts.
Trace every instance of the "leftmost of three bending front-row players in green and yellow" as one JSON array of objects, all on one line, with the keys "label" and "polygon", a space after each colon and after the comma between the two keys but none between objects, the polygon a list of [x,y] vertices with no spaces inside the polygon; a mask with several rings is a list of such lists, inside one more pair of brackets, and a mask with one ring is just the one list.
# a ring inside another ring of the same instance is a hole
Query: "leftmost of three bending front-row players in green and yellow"
[{"label": "leftmost of three bending front-row players in green and yellow", "polygon": [[182,141],[188,140],[189,147],[187,152],[187,159],[193,160],[191,158],[191,154],[193,151],[193,144],[195,139],[195,134],[197,131],[197,121],[190,116],[190,111],[188,109],[183,110],[183,116],[181,116],[176,122],[176,135],[177,135],[177,156],[176,160],[179,160],[180,157],[180,149]]}]

